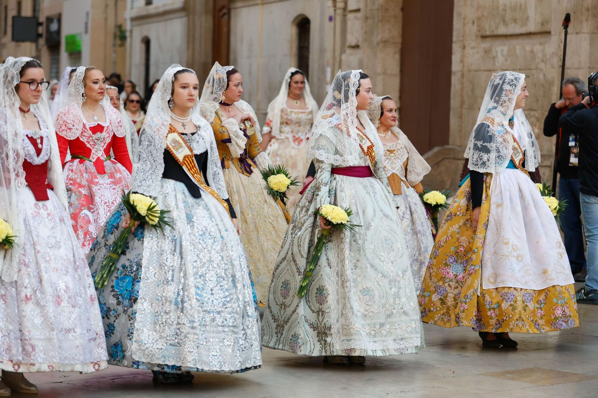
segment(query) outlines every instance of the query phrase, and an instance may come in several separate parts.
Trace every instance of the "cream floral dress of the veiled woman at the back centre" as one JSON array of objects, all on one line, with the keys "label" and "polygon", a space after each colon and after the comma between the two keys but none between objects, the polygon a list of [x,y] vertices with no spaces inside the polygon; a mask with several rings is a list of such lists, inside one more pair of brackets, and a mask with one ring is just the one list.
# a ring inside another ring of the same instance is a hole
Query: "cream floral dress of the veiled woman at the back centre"
[{"label": "cream floral dress of the veiled woman at the back centre", "polygon": [[[263,133],[269,132],[267,127],[271,124],[266,121]],[[304,179],[309,169],[310,159],[307,158],[306,148],[309,134],[312,131],[313,111],[312,109],[288,109],[283,106],[280,109],[280,130],[272,131],[272,137],[266,148],[273,164],[282,164],[289,170],[289,175]],[[286,192],[289,200],[286,201],[286,209],[293,213],[297,202],[300,200],[301,186],[293,186]]]}]

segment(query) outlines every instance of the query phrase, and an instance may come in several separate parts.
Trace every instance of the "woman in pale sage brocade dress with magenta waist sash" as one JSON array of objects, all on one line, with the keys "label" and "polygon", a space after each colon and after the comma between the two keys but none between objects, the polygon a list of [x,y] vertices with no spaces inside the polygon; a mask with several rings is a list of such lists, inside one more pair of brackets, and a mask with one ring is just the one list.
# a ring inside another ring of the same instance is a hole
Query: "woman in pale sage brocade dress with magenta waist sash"
[{"label": "woman in pale sage brocade dress with magenta waist sash", "polygon": [[[307,146],[315,179],[295,208],[276,261],[262,344],[331,363],[414,353],[423,346],[414,278],[384,148],[367,117],[373,99],[362,71],[338,71]],[[354,231],[334,231],[303,298],[297,290],[324,220],[325,204],[350,207]]]}]

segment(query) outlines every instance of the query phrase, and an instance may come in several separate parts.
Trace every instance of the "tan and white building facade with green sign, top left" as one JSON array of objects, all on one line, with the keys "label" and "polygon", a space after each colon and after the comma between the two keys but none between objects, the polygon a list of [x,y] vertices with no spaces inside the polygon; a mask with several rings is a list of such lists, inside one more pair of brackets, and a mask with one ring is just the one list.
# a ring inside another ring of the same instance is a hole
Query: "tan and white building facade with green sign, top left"
[{"label": "tan and white building facade with green sign, top left", "polygon": [[[80,65],[124,74],[126,10],[127,0],[2,0],[0,57],[36,57],[48,79]],[[13,16],[37,17],[39,39],[13,41]]]}]

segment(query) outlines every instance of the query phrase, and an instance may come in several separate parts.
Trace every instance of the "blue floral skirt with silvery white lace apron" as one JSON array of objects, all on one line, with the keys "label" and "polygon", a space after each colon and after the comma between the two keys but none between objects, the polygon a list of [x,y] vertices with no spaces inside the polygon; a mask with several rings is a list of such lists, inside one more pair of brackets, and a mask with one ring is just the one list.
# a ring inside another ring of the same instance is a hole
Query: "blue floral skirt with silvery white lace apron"
[{"label": "blue floral skirt with silvery white lace apron", "polygon": [[[97,297],[108,363],[167,373],[235,373],[261,366],[260,317],[230,216],[202,191],[161,179],[156,198],[173,228],[145,224],[129,236]],[[126,216],[120,204],[87,255],[100,269]],[[156,374],[156,373],[155,373]]]}]

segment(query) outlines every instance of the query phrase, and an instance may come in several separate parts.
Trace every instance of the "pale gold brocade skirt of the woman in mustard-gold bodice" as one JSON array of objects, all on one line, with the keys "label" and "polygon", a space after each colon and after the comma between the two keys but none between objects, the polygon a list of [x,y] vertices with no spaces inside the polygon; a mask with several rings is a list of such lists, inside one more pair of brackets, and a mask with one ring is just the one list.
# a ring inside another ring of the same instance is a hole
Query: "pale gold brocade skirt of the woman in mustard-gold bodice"
[{"label": "pale gold brocade skirt of the woman in mustard-gold bodice", "polygon": [[257,168],[251,176],[222,169],[226,189],[241,228],[241,241],[254,278],[258,301],[266,302],[276,256],[286,232],[286,219]]}]

